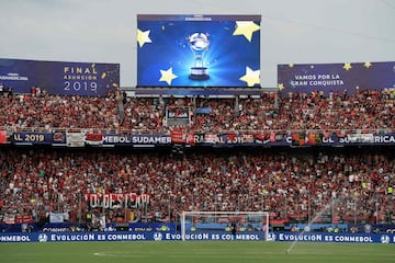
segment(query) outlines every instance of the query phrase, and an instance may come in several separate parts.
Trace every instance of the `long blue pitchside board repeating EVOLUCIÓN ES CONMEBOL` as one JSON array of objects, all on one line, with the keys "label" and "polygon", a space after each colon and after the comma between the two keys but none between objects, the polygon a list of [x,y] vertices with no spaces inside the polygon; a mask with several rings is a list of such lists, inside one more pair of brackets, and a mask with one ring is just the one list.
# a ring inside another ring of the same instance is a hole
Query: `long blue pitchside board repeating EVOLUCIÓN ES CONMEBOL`
[{"label": "long blue pitchside board repeating EVOLUCI\u00d3N ES CONMEBOL", "polygon": [[[70,242],[70,241],[180,241],[180,232],[32,232],[0,233],[1,242]],[[233,235],[225,231],[196,231],[185,235],[188,241],[233,241]],[[264,232],[238,232],[237,241],[263,241]],[[308,241],[337,243],[395,243],[392,233],[321,233],[321,232],[271,232],[270,241]]]}]

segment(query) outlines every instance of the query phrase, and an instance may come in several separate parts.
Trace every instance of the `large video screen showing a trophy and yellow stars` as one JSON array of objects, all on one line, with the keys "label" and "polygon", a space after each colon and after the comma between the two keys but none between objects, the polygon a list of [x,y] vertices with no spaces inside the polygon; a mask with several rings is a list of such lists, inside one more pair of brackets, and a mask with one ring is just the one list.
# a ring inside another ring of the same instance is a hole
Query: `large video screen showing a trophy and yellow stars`
[{"label": "large video screen showing a trophy and yellow stars", "polygon": [[260,15],[137,15],[137,87],[260,87]]}]

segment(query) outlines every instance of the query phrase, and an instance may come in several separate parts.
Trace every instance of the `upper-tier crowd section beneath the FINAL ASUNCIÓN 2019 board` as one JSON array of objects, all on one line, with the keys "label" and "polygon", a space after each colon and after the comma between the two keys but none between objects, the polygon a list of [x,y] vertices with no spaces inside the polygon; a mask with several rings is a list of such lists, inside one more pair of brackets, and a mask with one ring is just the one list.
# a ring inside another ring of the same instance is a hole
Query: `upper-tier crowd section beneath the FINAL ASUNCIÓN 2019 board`
[{"label": "upper-tier crowd section beneath the FINAL ASUNCI\u00d3N 2019 board", "polygon": [[116,93],[105,98],[31,94],[0,96],[0,127],[10,130],[56,130],[119,127]]}]

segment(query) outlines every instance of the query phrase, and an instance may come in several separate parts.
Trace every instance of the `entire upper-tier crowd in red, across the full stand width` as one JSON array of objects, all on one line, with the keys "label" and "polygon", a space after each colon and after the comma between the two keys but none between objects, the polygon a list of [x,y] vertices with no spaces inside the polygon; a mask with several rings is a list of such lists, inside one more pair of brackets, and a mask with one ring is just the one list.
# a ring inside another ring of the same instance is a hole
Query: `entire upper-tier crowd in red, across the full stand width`
[{"label": "entire upper-tier crowd in red, across the full stand width", "polygon": [[[10,129],[92,128],[169,133],[166,110],[188,107],[192,132],[256,130],[393,130],[395,92],[364,90],[353,95],[319,92],[236,99],[132,98],[109,92],[105,98],[32,94],[0,96],[0,127]],[[120,111],[120,107],[122,111]],[[208,111],[200,112],[199,108]],[[122,112],[122,114],[120,114]]]}]

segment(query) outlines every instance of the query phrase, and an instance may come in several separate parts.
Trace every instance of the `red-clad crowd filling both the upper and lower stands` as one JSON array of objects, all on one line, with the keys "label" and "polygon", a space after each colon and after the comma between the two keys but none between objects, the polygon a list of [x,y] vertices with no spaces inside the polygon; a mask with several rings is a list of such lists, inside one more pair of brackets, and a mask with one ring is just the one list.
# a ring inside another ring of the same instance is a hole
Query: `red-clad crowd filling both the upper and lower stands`
[{"label": "red-clad crowd filling both the upper and lower stands", "polygon": [[[31,94],[0,96],[8,130],[100,129],[169,133],[167,107],[188,107],[191,132],[384,130],[395,127],[394,92],[319,92],[246,98],[105,98]],[[205,108],[207,111],[198,111]],[[122,113],[122,114],[121,114]],[[178,220],[181,210],[269,210],[272,220],[307,221],[325,210],[331,221],[395,221],[395,161],[391,151],[171,152],[1,148],[0,214],[67,213],[86,221],[132,210],[92,210],[86,193],[149,194],[133,210],[149,220]],[[329,206],[331,208],[329,208]],[[127,216],[127,218],[129,218]]]}]

